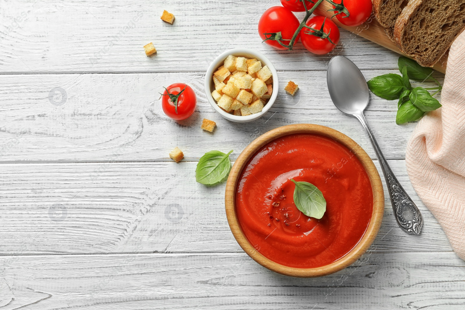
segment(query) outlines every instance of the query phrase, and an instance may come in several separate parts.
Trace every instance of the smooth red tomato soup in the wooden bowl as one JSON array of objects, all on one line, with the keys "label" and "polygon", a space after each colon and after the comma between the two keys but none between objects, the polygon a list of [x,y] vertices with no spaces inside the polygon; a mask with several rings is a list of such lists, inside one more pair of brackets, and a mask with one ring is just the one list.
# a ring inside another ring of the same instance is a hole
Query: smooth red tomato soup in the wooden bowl
[{"label": "smooth red tomato soup in the wooden bowl", "polygon": [[[312,183],[323,193],[321,219],[297,209],[291,179]],[[288,267],[337,261],[359,243],[372,211],[372,186],[359,159],[317,134],[292,134],[263,146],[246,163],[236,190],[237,217],[250,244]]]}]

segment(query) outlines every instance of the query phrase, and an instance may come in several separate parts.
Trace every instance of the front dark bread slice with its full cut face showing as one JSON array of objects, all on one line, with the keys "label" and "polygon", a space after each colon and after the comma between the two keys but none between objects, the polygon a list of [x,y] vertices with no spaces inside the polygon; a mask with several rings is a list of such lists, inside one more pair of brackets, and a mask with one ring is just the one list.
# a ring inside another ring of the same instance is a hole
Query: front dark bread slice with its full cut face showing
[{"label": "front dark bread slice with its full cut face showing", "polygon": [[464,27],[464,0],[410,0],[396,20],[394,38],[405,54],[431,67]]}]

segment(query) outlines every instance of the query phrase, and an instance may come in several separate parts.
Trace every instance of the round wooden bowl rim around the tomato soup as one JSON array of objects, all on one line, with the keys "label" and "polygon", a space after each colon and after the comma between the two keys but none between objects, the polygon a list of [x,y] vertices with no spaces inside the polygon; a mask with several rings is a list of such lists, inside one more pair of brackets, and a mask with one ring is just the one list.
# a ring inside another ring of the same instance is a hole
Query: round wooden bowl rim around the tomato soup
[{"label": "round wooden bowl rim around the tomato soup", "polygon": [[[242,172],[247,161],[257,152],[263,145],[271,142],[274,139],[293,134],[293,133],[314,133],[322,136],[330,137],[342,145],[345,145],[351,150],[357,158],[359,158],[366,173],[370,179],[372,190],[373,190],[373,213],[370,220],[370,224],[365,231],[365,234],[359,241],[359,243],[344,257],[333,262],[332,264],[318,267],[318,268],[293,268],[287,267],[272,260],[266,258],[258,251],[254,249],[252,244],[249,243],[246,236],[242,232],[239,221],[236,214],[236,187],[239,182],[239,176]],[[226,216],[228,219],[229,227],[233,232],[234,237],[241,246],[241,248],[260,265],[280,273],[282,275],[291,277],[321,277],[331,273],[337,272],[344,269],[345,267],[353,264],[359,257],[361,257],[365,251],[370,247],[373,240],[379,231],[381,220],[384,214],[384,192],[381,179],[379,178],[378,170],[373,164],[372,159],[368,154],[358,145],[354,140],[347,137],[342,132],[338,132],[332,128],[314,125],[314,124],[296,124],[287,125],[273,129],[272,131],[266,132],[259,138],[252,141],[242,153],[240,153],[231,172],[229,173],[228,180],[226,182],[226,193],[225,193],[225,204],[226,204]]]}]

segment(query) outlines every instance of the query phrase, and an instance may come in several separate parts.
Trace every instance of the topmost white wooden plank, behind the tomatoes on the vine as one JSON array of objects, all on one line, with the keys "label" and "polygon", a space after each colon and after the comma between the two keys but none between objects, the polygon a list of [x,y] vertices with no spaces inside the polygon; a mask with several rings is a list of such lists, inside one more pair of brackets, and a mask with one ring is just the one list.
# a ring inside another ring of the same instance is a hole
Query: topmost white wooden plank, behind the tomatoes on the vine
[{"label": "topmost white wooden plank, behind the tomatoes on the vine", "polygon": [[[345,30],[328,55],[308,53],[301,43],[292,52],[267,46],[257,25],[274,5],[279,2],[5,0],[0,73],[199,72],[234,47],[264,53],[277,70],[325,70],[336,54],[354,57],[364,69],[396,68],[396,53]],[[173,25],[159,19],[164,9],[174,13]],[[146,57],[148,42],[157,55]]]}]

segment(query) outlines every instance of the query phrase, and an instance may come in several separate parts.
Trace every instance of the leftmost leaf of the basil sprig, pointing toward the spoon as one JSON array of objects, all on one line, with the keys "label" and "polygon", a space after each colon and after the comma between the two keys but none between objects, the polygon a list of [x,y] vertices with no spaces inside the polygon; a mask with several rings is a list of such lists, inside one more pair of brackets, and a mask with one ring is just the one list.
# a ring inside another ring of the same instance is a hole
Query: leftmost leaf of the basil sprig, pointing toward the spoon
[{"label": "leftmost leaf of the basil sprig, pointing toward the spoon", "polygon": [[368,88],[378,97],[394,100],[399,99],[405,85],[399,74],[388,73],[377,76],[367,82]]}]

